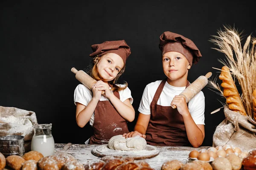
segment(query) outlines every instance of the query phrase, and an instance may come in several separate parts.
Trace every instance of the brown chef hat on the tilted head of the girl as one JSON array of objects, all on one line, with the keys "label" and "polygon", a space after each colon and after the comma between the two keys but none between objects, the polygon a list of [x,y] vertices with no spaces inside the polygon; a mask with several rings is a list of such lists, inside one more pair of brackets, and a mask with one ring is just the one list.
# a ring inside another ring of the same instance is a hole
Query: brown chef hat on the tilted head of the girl
[{"label": "brown chef hat on the tilted head of the girl", "polygon": [[126,44],[125,40],[118,41],[105,41],[101,44],[91,45],[93,49],[93,53],[90,54],[90,57],[95,57],[96,55],[103,55],[107,53],[115,53],[118,54],[124,61],[131,54],[130,47]]}]

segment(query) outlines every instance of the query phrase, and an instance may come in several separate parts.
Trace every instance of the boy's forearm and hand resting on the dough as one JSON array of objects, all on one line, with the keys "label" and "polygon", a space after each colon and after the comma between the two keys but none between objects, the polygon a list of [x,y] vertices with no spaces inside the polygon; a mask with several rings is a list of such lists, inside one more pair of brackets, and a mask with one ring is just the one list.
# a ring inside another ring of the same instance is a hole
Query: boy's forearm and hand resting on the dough
[{"label": "boy's forearm and hand resting on the dough", "polygon": [[133,132],[124,133],[123,136],[125,138],[135,137],[139,135],[140,137],[146,138],[145,134],[148,128],[148,122],[150,120],[150,114],[146,115],[143,113],[140,113],[136,122],[136,125],[134,127]]}]

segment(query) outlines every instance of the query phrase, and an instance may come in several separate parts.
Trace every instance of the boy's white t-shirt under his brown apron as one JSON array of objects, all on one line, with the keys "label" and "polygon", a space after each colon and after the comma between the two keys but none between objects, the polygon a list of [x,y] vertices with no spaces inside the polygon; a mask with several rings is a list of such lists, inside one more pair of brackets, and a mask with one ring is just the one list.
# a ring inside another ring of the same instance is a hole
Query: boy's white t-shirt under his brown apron
[{"label": "boy's white t-shirt under his brown apron", "polygon": [[[151,114],[150,104],[154,98],[154,94],[157,91],[158,86],[162,80],[149,83],[143,92],[143,96],[140,101],[140,106],[138,111],[143,114]],[[169,85],[166,81],[163,91],[160,94],[160,97],[157,101],[157,105],[161,106],[171,106],[172,99],[174,96],[179,95],[186,87],[175,87]],[[189,101],[189,113],[191,114],[195,124],[205,125],[204,124],[204,93],[200,91]]]}]

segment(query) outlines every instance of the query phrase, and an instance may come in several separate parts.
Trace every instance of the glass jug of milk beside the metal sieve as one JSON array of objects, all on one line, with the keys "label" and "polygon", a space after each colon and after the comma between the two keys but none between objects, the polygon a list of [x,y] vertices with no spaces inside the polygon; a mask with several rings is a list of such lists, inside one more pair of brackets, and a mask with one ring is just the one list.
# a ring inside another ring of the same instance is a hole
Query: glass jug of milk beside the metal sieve
[{"label": "glass jug of milk beside the metal sieve", "polygon": [[31,150],[38,151],[45,156],[54,153],[54,139],[52,137],[52,124],[35,124],[34,136],[31,141]]}]

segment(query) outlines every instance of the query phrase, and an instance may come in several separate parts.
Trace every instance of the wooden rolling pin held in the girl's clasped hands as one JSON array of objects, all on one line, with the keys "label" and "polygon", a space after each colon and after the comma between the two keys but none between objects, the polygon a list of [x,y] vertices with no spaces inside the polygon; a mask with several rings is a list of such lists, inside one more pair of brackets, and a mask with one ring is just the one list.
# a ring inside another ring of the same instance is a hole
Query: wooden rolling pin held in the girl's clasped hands
[{"label": "wooden rolling pin held in the girl's clasped hands", "polygon": [[[85,85],[87,88],[92,90],[93,85],[97,82],[95,79],[90,77],[88,74],[86,74],[84,71],[79,70],[77,71],[76,68],[71,68],[71,71],[76,74],[76,79],[79,80],[83,85]],[[102,91],[102,94],[104,94],[105,91]]]}]

